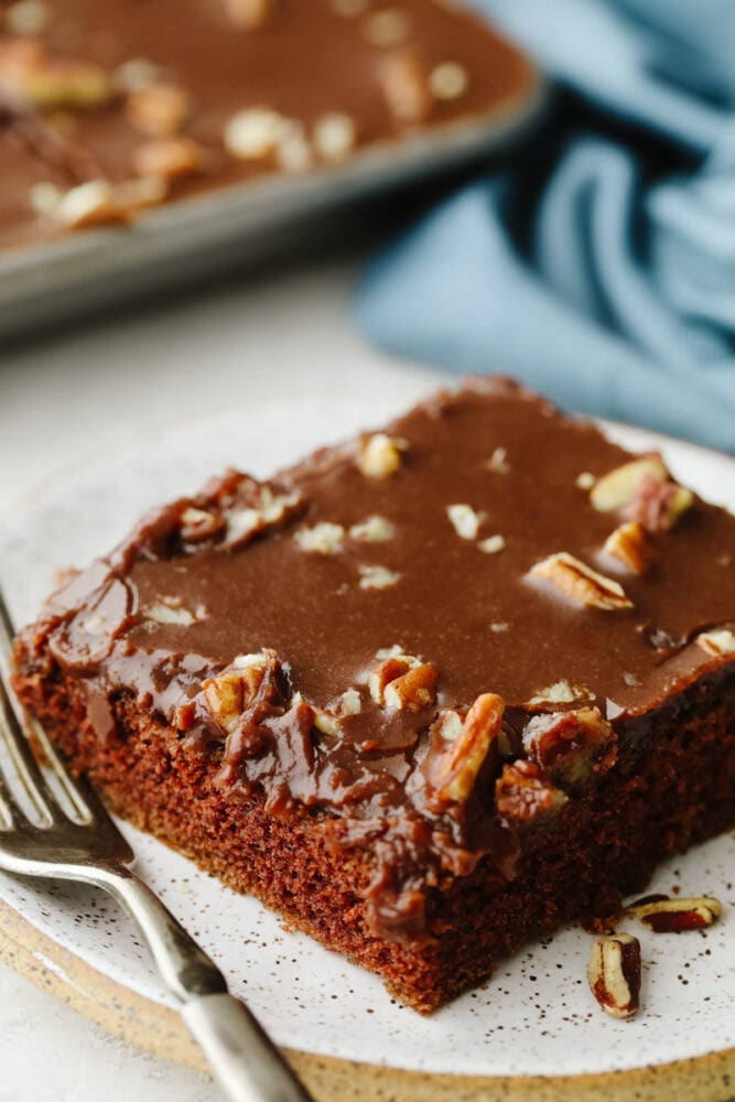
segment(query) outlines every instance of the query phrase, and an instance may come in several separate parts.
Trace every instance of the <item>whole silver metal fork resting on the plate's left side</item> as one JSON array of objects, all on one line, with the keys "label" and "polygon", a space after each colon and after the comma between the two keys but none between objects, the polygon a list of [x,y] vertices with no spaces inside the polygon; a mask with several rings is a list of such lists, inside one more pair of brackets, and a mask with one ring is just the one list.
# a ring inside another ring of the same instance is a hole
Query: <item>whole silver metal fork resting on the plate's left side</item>
[{"label": "whole silver metal fork resting on the plate's left side", "polygon": [[[136,855],[91,786],[69,778],[43,728],[11,696],[4,676],[10,669],[12,637],[0,593],[0,742],[6,749],[0,755],[0,868],[21,876],[94,884],[122,905],[233,1102],[313,1102],[252,1014],[228,993],[219,969],[131,872]],[[69,810],[46,781],[34,745]],[[14,778],[9,776],[9,764]],[[25,793],[37,823],[23,810],[13,788]]]}]

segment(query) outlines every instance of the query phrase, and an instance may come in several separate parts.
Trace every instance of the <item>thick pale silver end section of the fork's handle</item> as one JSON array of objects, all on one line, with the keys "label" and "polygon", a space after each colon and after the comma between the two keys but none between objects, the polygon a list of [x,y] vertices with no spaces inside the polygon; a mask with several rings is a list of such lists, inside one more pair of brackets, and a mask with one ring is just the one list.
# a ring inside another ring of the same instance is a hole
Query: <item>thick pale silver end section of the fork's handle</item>
[{"label": "thick pale silver end section of the fork's handle", "polygon": [[182,1017],[231,1102],[311,1102],[247,1007],[229,994],[185,1003]]}]

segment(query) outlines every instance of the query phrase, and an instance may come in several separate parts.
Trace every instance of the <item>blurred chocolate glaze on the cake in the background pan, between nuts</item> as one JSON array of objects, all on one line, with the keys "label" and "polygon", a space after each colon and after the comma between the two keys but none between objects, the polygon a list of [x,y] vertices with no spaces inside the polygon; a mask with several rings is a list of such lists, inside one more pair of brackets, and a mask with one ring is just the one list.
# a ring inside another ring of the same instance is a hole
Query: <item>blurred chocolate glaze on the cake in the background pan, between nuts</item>
[{"label": "blurred chocolate glaze on the cake in the background pan, between nuts", "polygon": [[[2,35],[2,12],[11,7],[0,3],[0,91],[2,44],[10,40]],[[188,94],[191,112],[183,129],[202,144],[205,161],[202,171],[174,181],[174,197],[277,169],[272,158],[238,161],[224,149],[224,128],[244,108],[275,110],[303,125],[306,134],[324,115],[346,115],[355,125],[355,149],[360,149],[501,111],[530,87],[528,63],[486,24],[443,0],[365,0],[352,6],[354,14],[341,14],[339,7],[341,0],[274,0],[263,25],[245,30],[234,25],[226,0],[54,0],[36,41],[54,60],[91,63],[110,75],[143,58],[155,66],[160,80]],[[394,45],[370,41],[370,19],[386,12],[398,12],[403,21]],[[426,78],[442,63],[458,64],[466,88],[454,98],[430,97],[424,118],[398,117],[380,80],[380,65],[396,51],[417,58]],[[132,158],[144,136],[130,125],[125,101],[119,93],[98,106],[36,112],[42,129],[62,133],[83,154],[69,185],[134,175]],[[6,116],[0,132],[3,125],[8,130],[15,123]],[[58,165],[48,142],[39,141],[35,159],[35,180],[53,180]],[[24,185],[23,180],[23,216],[0,215],[0,247],[35,237],[39,222],[46,234],[53,233],[50,219],[34,215]],[[6,196],[18,205],[18,186],[13,174],[2,173],[0,212],[8,206]]]}]

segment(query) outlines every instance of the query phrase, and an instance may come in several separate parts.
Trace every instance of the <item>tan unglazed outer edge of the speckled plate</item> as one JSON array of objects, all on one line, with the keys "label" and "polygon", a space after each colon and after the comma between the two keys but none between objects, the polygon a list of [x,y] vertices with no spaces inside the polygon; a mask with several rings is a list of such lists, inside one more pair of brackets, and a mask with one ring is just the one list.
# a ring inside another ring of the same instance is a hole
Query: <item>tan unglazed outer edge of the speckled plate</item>
[{"label": "tan unglazed outer edge of the speckled plate", "polygon": [[[108,1033],[197,1071],[206,1063],[175,1011],[91,968],[0,900],[0,960]],[[603,1076],[437,1076],[284,1049],[317,1102],[727,1102],[735,1049]]]}]

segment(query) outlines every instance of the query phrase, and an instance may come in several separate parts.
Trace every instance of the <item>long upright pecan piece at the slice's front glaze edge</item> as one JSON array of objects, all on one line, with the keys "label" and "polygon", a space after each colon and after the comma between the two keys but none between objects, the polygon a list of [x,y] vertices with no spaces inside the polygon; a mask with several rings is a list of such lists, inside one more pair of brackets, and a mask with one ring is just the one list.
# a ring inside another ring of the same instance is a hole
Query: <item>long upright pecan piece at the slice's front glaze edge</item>
[{"label": "long upright pecan piece at the slice's front glaze edge", "polygon": [[440,800],[466,800],[485,763],[489,759],[490,767],[497,763],[504,712],[504,700],[488,692],[477,698],[456,734],[456,721],[447,720],[456,713],[446,713],[440,721],[442,734],[447,731],[451,736],[450,746],[433,774],[433,786]]}]

